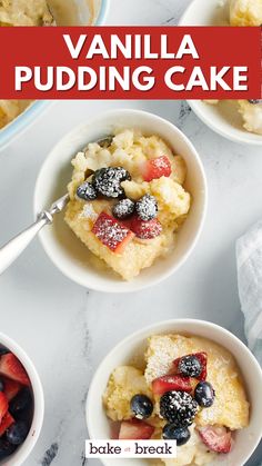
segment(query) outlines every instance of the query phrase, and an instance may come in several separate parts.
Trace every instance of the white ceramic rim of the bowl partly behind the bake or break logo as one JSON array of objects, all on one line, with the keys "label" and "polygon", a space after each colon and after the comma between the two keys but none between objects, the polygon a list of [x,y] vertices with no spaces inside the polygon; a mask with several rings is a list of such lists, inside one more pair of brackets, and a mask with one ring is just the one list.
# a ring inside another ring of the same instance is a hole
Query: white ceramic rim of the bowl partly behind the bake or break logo
[{"label": "white ceramic rim of the bowl partly behind the bake or break logo", "polygon": [[[121,341],[119,341],[109,353],[108,355],[102,358],[102,360],[99,363],[98,368],[92,377],[91,384],[89,386],[89,393],[87,396],[87,401],[85,401],[85,420],[87,420],[87,426],[88,426],[88,430],[89,430],[89,436],[91,439],[97,439],[95,435],[94,435],[94,429],[93,429],[93,416],[92,416],[92,409],[91,406],[93,406],[93,400],[92,400],[92,395],[93,393],[95,393],[97,390],[97,386],[99,383],[99,378],[100,378],[100,373],[103,371],[103,366],[105,365],[105,363],[108,361],[108,359],[110,360],[115,354],[122,354],[122,347],[127,347],[129,344],[131,344],[133,340],[138,341],[141,340],[141,344],[143,343],[143,340],[150,336],[150,335],[154,335],[154,334],[167,334],[168,331],[170,334],[173,334],[175,331],[181,331],[182,334],[185,333],[185,330],[181,330],[180,328],[178,330],[175,330],[175,326],[180,327],[180,326],[190,326],[191,328],[195,327],[195,331],[191,330],[189,331],[190,335],[194,335],[194,336],[201,336],[201,330],[198,331],[198,328],[205,328],[210,331],[210,336],[205,336],[204,338],[210,338],[212,340],[212,330],[215,330],[216,333],[221,333],[221,335],[223,334],[225,336],[225,338],[228,338],[229,340],[231,340],[235,348],[243,351],[246,357],[250,359],[250,364],[254,367],[255,373],[258,374],[258,379],[255,380],[256,383],[259,383],[260,388],[262,389],[262,369],[260,364],[258,363],[256,358],[254,357],[254,355],[250,351],[250,349],[244,345],[243,341],[241,341],[235,335],[233,335],[231,331],[229,331],[228,329],[206,321],[206,320],[201,320],[201,319],[191,319],[191,318],[179,318],[179,319],[169,319],[169,320],[163,320],[163,321],[158,321],[154,324],[151,324],[147,327],[143,327],[142,329],[134,331],[133,334],[129,335],[128,337],[125,337],[124,339],[122,339]],[[223,343],[214,339],[214,341],[219,343],[222,347],[226,347],[223,345]],[[103,387],[103,389],[105,388],[105,386]],[[95,407],[94,407],[95,408]],[[255,442],[253,443],[250,454],[249,456],[245,457],[245,462],[251,457],[251,455],[254,453],[255,448],[258,447],[260,440],[262,438],[262,424],[260,427],[260,433],[256,436]],[[102,463],[104,464],[104,466],[112,466],[111,460],[107,462],[105,459],[101,459]],[[242,464],[242,463],[241,463]],[[224,465],[224,463],[223,463]],[[228,463],[226,463],[228,465]],[[114,464],[113,464],[114,466]],[[224,465],[225,466],[225,465]]]}]

